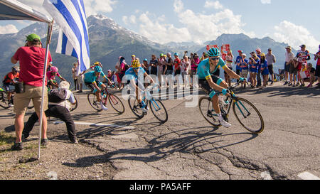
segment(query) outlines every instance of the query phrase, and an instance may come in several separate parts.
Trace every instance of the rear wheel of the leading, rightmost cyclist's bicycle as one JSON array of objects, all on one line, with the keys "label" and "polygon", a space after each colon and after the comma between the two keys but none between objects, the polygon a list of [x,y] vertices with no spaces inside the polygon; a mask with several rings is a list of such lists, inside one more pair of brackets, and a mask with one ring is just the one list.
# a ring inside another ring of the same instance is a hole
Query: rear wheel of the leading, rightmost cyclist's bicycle
[{"label": "rear wheel of the leading, rightmost cyclist's bicycle", "polygon": [[213,104],[208,97],[201,97],[199,99],[198,107],[202,116],[208,123],[213,126],[220,126],[218,115],[215,114],[215,111],[213,110]]}]

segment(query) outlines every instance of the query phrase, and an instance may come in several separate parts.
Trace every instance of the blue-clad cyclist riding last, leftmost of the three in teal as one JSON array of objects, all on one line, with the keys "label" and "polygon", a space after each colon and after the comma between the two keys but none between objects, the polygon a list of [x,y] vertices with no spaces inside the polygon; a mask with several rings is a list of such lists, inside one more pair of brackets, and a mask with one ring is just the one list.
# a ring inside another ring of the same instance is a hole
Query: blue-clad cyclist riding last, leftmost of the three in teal
[{"label": "blue-clad cyclist riding last, leftmost of the three in teal", "polygon": [[106,78],[106,80],[108,80],[110,84],[112,84],[112,82],[107,76],[105,76],[105,73],[102,72],[102,68],[100,67],[100,65],[95,65],[93,69],[94,71],[85,73],[85,85],[87,85],[87,87],[91,89],[91,92],[95,93],[95,95],[97,96],[97,102],[100,102],[101,109],[107,110],[107,107],[102,104],[101,100],[101,91],[105,89],[106,86],[102,82],[100,82],[98,78],[103,74],[103,76]]}]

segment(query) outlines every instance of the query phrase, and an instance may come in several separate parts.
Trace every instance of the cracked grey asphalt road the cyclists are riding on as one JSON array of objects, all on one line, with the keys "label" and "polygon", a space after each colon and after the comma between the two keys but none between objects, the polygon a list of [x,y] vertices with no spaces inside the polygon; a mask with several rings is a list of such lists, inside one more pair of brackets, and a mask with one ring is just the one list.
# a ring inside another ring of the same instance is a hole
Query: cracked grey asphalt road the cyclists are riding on
[{"label": "cracked grey asphalt road the cyclists are riding on", "polygon": [[[150,111],[137,119],[126,100],[124,114],[112,107],[97,112],[85,93],[76,94],[79,106],[72,114],[80,141],[105,151],[119,170],[116,180],[319,179],[320,90],[277,82],[266,90],[238,89],[236,94],[260,110],[265,121],[262,134],[242,128],[233,112],[233,126],[214,128],[198,107],[190,107],[191,99],[176,99],[173,93],[162,101],[169,112],[165,124]],[[12,110],[0,110],[1,126],[13,123]],[[65,130],[65,124],[51,119],[49,139],[58,130]]]}]

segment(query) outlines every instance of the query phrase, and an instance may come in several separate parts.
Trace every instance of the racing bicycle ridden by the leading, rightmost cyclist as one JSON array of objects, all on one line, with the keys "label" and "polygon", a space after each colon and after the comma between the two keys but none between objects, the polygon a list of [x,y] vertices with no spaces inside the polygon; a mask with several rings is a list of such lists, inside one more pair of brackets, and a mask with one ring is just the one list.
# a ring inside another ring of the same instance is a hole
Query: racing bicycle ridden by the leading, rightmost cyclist
[{"label": "racing bicycle ridden by the leading, rightmost cyclist", "polygon": [[[265,128],[263,118],[259,110],[249,100],[235,95],[234,90],[238,85],[239,83],[228,87],[230,95],[228,97],[224,96],[224,99],[219,100],[221,115],[225,121],[228,122],[228,114],[232,107],[235,117],[245,129],[253,134],[260,134]],[[221,94],[221,92],[217,92],[217,95]],[[218,114],[213,110],[213,104],[210,97],[201,97],[198,102],[198,107],[207,122],[213,126],[220,126]]]}]

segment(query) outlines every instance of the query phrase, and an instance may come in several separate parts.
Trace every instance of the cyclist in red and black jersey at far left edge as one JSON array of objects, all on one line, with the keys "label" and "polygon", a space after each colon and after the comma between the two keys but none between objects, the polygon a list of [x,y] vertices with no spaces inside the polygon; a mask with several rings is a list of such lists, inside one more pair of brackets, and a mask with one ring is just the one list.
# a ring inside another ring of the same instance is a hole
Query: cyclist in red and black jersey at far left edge
[{"label": "cyclist in red and black jersey at far left edge", "polygon": [[13,90],[12,87],[14,87],[14,84],[16,82],[18,82],[19,79],[19,67],[18,66],[14,66],[11,68],[11,72],[9,72],[8,74],[6,74],[6,76],[4,76],[4,81],[2,81],[3,85],[4,85],[4,89],[6,90],[6,94],[8,97],[8,102],[9,102],[9,107],[13,107],[14,106],[14,102],[11,102],[11,90]]}]

